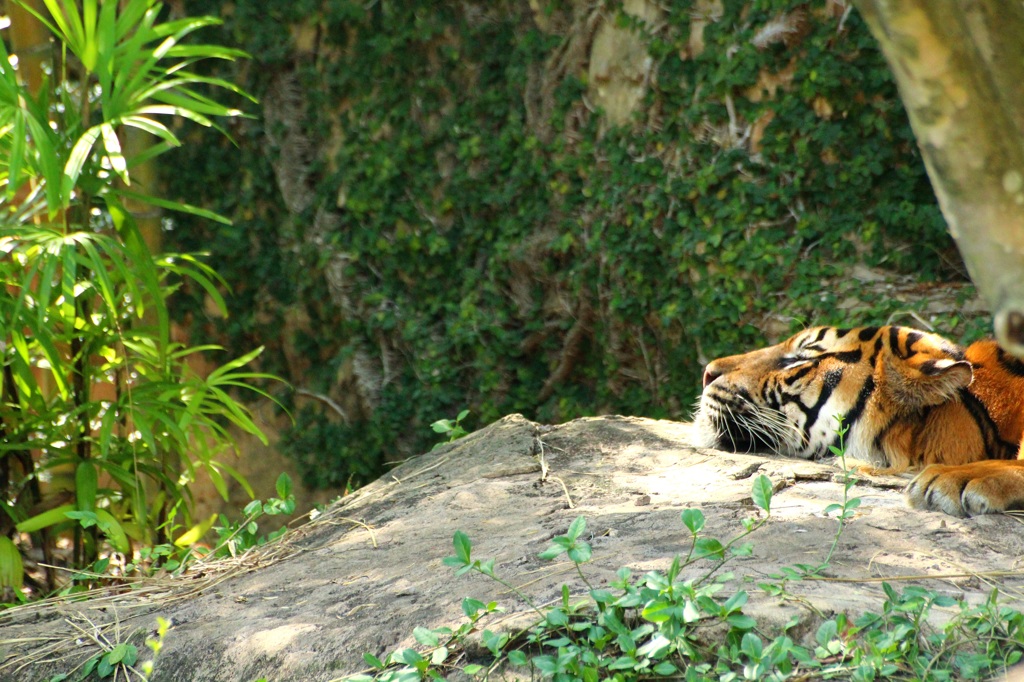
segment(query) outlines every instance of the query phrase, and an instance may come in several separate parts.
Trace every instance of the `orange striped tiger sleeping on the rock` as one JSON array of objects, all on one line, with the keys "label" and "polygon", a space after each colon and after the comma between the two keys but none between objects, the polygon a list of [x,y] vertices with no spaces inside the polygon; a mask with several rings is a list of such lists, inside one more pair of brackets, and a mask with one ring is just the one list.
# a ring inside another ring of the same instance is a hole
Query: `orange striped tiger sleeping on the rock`
[{"label": "orange striped tiger sleeping on the rock", "polygon": [[720,357],[694,415],[698,446],[820,459],[842,443],[876,471],[916,472],[911,507],[962,517],[1024,509],[1022,433],[1024,363],[991,339],[895,326]]}]

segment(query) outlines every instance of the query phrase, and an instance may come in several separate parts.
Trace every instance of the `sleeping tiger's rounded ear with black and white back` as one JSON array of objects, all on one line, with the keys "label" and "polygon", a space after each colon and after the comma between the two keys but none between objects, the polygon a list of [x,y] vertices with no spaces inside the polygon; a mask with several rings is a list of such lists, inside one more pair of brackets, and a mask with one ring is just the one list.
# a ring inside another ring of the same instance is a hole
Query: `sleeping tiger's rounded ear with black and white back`
[{"label": "sleeping tiger's rounded ear with black and white back", "polygon": [[971,385],[974,369],[965,359],[912,354],[908,358],[888,355],[885,361],[886,391],[897,408],[920,410],[957,399]]}]

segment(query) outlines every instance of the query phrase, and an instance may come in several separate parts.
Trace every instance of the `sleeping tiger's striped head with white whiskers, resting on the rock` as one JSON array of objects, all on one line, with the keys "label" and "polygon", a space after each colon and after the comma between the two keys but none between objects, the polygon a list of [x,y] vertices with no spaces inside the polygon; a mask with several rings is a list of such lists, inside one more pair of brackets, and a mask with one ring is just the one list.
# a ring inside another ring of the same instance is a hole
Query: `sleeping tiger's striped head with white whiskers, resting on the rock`
[{"label": "sleeping tiger's striped head with white whiskers, resting on the rock", "polygon": [[897,435],[931,406],[958,400],[972,379],[964,349],[934,334],[808,329],[708,365],[694,417],[697,444],[819,458],[839,444],[841,417],[849,455],[892,466],[903,459],[893,452],[905,439]]}]

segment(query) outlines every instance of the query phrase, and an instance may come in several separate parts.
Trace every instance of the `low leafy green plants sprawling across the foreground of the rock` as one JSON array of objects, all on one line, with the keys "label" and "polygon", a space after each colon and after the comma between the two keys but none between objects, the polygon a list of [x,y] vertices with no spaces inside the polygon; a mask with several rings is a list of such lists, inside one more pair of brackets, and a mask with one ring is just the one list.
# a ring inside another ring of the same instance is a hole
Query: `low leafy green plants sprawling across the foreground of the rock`
[{"label": "low leafy green plants sprawling across the foreground of the rock", "polygon": [[[744,519],[743,529],[727,542],[705,534],[700,510],[685,510],[681,520],[690,532],[687,554],[677,556],[665,572],[634,577],[628,568],[621,568],[607,588],[594,588],[582,570],[592,549],[585,540],[586,521],[577,518],[540,556],[551,560],[564,554],[587,594],[573,598],[570,588],[563,585],[553,605],[537,604],[501,578],[494,559],[474,558],[470,539],[457,531],[455,554],[444,563],[456,568],[457,576],[472,571],[495,580],[535,610],[537,622],[520,632],[492,631],[481,617],[501,607],[495,602],[465,600],[467,622],[458,629],[417,628],[414,637],[423,650],[404,648],[383,657],[366,653],[364,659],[371,669],[343,679],[439,680],[461,670],[475,679],[488,679],[493,674],[506,679],[511,673],[516,678],[556,682],[639,682],[659,677],[724,682],[952,680],[984,679],[1021,659],[1024,614],[1000,605],[994,590],[984,604],[971,606],[924,588],[911,586],[900,592],[883,584],[881,613],[867,612],[854,622],[844,614],[824,620],[809,647],[786,634],[796,621],[781,633],[766,636],[757,621],[743,612],[749,594],[737,590],[726,595],[727,583],[734,577],[717,571],[732,557],[750,554],[745,538],[767,522],[771,492],[767,477],[755,480],[751,497],[764,514]],[[841,516],[851,511],[855,507],[849,500],[845,496],[844,503],[831,511],[840,511]],[[827,566],[830,556],[831,552],[819,569]],[[796,577],[809,573],[807,568],[793,569]],[[929,616],[935,607],[954,613],[945,625],[933,625]],[[471,634],[479,635],[488,660],[465,663],[461,651]]]}]

